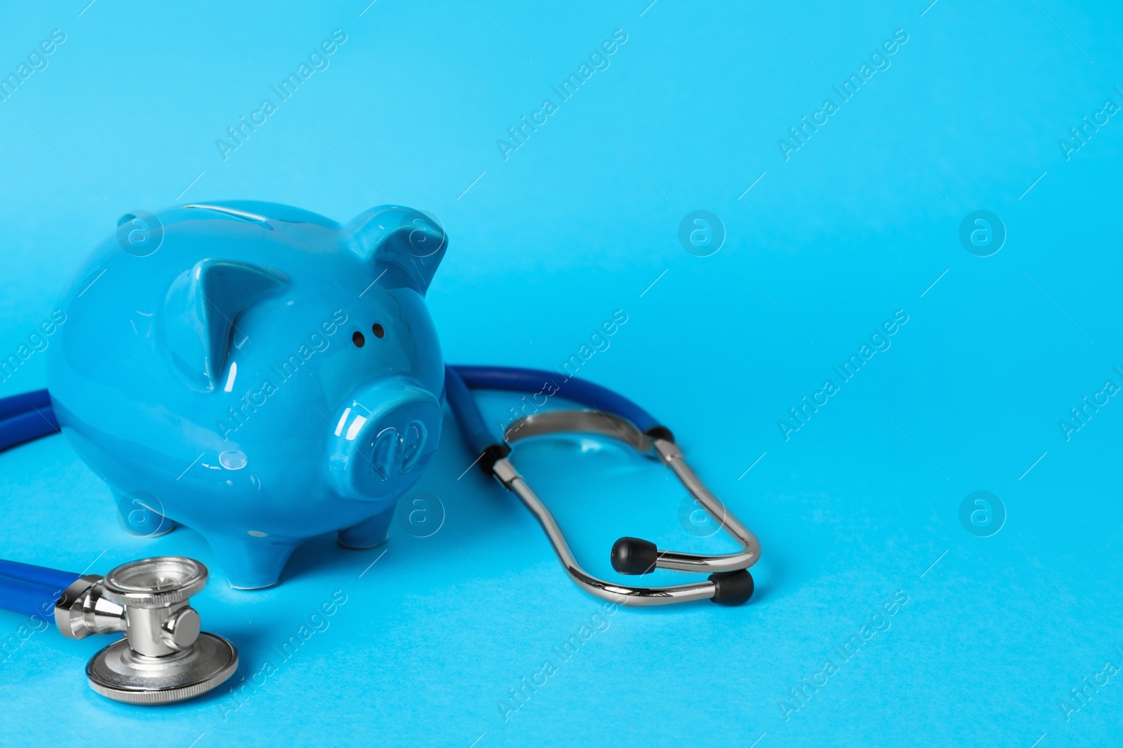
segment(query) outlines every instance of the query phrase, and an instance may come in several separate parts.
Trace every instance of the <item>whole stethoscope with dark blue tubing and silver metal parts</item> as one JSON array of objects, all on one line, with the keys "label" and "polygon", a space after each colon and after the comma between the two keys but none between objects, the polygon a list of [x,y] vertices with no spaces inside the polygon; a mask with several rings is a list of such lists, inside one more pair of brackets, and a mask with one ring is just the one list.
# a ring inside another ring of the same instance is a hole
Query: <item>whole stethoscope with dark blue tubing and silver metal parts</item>
[{"label": "whole stethoscope with dark blue tubing and silver metal parts", "polygon": [[[560,380],[560,381],[559,381]],[[495,389],[559,396],[587,409],[541,410],[518,418],[501,437],[492,433],[472,395]],[[445,367],[445,395],[480,468],[530,509],[566,572],[586,592],[618,604],[658,606],[711,600],[739,606],[752,595],[748,567],[760,557],[756,536],[691,470],[670,431],[631,400],[610,389],[550,371],[505,367]],[[0,451],[58,433],[47,390],[0,399]],[[628,575],[656,569],[709,572],[706,581],[672,587],[618,584],[586,572],[549,508],[511,461],[513,447],[530,438],[594,433],[624,442],[661,461],[705,511],[742,546],[739,553],[700,555],[659,550],[621,537],[612,567]],[[207,567],[192,558],[158,556],[121,564],[104,576],[81,575],[0,561],[0,608],[54,620],[67,637],[124,634],[86,665],[90,686],[103,696],[135,704],[161,704],[201,695],[238,668],[238,652],[220,636],[201,630],[190,598],[207,584]]]}]

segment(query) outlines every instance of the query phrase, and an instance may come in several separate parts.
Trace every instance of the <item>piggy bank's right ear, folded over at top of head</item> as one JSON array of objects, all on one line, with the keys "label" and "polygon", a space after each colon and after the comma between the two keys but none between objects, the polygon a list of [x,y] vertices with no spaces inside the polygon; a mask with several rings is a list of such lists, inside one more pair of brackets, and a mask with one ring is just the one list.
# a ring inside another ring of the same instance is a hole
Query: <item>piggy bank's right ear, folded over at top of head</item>
[{"label": "piggy bank's right ear, folded over at top of head", "polygon": [[359,214],[345,229],[351,250],[369,264],[374,276],[385,273],[391,288],[409,287],[424,296],[448,239],[432,216],[400,205],[381,205]]}]

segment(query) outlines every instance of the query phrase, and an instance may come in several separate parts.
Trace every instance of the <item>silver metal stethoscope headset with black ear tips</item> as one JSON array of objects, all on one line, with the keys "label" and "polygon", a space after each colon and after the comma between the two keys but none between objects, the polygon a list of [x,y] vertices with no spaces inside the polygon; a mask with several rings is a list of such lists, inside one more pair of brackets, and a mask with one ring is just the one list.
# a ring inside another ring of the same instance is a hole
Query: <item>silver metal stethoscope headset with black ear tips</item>
[{"label": "silver metal stethoscope headset with black ear tips", "polygon": [[[632,587],[615,584],[587,573],[569,550],[562,528],[541,499],[527,484],[510,460],[510,445],[532,436],[565,432],[592,432],[631,444],[645,455],[658,456],[670,468],[683,486],[705,508],[711,517],[732,535],[743,547],[729,555],[697,555],[660,551],[654,543],[634,537],[622,537],[612,546],[612,567],[621,574],[647,574],[656,569],[684,572],[711,572],[705,582],[675,587]],[[549,410],[520,418],[506,427],[503,435],[505,453],[492,450],[482,461],[508,490],[513,491],[538,518],[554,550],[573,580],[586,592],[617,603],[658,606],[688,600],[712,600],[723,606],[739,606],[752,597],[752,576],[747,571],[760,557],[760,543],[713,493],[706,489],[675,444],[670,432],[661,426],[641,432],[624,418],[594,410]]]}]

